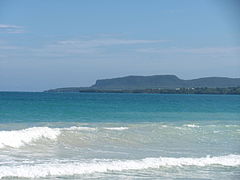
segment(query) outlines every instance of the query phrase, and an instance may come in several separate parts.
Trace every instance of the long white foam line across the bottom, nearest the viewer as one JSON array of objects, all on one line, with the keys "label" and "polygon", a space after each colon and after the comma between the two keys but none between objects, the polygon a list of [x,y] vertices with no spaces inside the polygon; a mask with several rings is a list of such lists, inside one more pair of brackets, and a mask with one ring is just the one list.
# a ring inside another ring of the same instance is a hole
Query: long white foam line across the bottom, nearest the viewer
[{"label": "long white foam line across the bottom, nearest the viewer", "polygon": [[171,168],[182,166],[240,166],[240,155],[203,158],[145,158],[140,160],[93,160],[91,162],[52,162],[35,165],[0,166],[0,178],[38,178],[49,176],[71,176],[96,172],[142,170],[147,168]]}]

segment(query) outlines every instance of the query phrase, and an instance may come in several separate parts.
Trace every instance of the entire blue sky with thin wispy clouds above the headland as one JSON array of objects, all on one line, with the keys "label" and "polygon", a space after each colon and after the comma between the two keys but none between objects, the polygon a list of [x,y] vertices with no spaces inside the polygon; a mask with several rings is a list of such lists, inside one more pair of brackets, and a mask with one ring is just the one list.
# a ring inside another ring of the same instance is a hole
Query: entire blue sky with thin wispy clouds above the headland
[{"label": "entire blue sky with thin wispy clouds above the headland", "polygon": [[238,0],[0,0],[0,91],[240,77]]}]

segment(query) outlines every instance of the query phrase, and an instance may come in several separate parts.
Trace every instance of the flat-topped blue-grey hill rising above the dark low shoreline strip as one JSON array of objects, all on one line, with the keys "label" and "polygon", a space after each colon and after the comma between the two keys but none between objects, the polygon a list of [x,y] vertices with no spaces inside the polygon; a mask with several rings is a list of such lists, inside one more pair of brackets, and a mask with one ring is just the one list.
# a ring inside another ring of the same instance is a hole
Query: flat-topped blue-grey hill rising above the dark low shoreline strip
[{"label": "flat-topped blue-grey hill rising above the dark low shoreline strip", "polygon": [[97,80],[90,87],[58,88],[49,91],[77,92],[79,90],[143,90],[176,88],[227,88],[240,87],[240,78],[205,77],[183,80],[175,75],[126,76]]}]

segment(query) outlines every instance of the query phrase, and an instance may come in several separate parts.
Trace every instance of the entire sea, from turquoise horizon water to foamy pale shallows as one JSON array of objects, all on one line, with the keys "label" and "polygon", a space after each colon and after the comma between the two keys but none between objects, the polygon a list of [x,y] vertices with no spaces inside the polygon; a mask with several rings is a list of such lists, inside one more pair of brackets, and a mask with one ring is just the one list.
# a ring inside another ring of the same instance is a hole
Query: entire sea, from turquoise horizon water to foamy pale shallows
[{"label": "entire sea, from turquoise horizon water to foamy pale shallows", "polygon": [[240,96],[0,92],[0,179],[240,179]]}]

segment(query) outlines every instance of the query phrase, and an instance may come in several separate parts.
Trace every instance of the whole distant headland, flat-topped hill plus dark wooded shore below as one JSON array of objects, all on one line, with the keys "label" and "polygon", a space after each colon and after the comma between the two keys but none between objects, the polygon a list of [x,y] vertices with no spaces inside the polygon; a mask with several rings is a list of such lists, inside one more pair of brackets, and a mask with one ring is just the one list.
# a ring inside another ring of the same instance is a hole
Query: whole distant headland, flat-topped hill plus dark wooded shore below
[{"label": "whole distant headland, flat-topped hill plus dark wooded shore below", "polygon": [[97,80],[90,87],[66,87],[44,92],[240,94],[240,78],[205,77],[183,80],[175,75],[126,76]]}]

